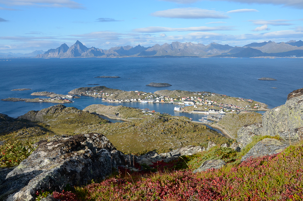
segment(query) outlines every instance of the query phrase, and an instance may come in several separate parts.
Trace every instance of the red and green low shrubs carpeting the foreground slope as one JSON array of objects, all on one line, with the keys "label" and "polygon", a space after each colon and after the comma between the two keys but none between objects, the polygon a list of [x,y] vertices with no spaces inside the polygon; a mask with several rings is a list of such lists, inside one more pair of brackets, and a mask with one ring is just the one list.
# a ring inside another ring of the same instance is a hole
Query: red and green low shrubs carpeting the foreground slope
[{"label": "red and green low shrubs carpeting the foreground slope", "polygon": [[[215,152],[213,149],[211,152]],[[210,153],[210,152],[209,152]],[[224,155],[224,154],[223,154]],[[249,158],[240,165],[193,173],[188,170],[129,174],[101,183],[55,192],[62,200],[302,200],[303,146],[271,156]]]}]

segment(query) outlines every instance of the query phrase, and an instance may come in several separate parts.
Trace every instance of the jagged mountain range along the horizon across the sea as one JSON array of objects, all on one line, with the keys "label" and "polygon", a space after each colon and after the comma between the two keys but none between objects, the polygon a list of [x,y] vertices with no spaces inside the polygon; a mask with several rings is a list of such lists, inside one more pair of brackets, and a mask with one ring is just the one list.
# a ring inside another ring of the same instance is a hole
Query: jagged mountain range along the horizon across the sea
[{"label": "jagged mountain range along the horizon across the sea", "polygon": [[88,48],[80,41],[70,47],[65,43],[56,49],[44,52],[36,50],[28,54],[0,53],[0,57],[36,57],[36,58],[72,58],[72,57],[132,57],[132,56],[196,56],[196,57],[258,57],[258,56],[303,56],[303,41],[291,40],[286,43],[275,43],[272,41],[263,43],[250,43],[243,47],[232,47],[218,43],[203,45],[201,43],[172,42],[152,47],[143,46],[118,46],[110,49]]}]

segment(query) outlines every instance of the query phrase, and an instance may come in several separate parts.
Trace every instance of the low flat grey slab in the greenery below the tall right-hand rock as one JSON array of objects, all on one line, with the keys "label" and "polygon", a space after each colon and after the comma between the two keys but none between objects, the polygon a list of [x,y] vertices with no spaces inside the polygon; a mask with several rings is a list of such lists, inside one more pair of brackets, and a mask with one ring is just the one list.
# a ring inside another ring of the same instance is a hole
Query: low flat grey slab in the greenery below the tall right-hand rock
[{"label": "low flat grey slab in the greenery below the tall right-hand rock", "polygon": [[241,158],[241,162],[245,161],[249,157],[259,157],[272,155],[282,152],[286,147],[289,146],[289,143],[283,140],[277,140],[274,138],[265,138],[262,141],[259,141],[255,146],[253,146],[246,155]]}]

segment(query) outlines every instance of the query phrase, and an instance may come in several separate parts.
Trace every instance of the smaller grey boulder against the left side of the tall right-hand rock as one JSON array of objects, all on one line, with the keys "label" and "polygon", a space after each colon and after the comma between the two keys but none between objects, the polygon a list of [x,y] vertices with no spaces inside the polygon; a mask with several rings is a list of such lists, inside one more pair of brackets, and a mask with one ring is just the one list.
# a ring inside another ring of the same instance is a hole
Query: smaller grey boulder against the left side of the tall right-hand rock
[{"label": "smaller grey boulder against the left side of the tall right-hand rock", "polygon": [[246,147],[246,145],[252,142],[252,137],[255,135],[264,135],[262,122],[242,126],[238,130],[237,142],[239,147]]}]

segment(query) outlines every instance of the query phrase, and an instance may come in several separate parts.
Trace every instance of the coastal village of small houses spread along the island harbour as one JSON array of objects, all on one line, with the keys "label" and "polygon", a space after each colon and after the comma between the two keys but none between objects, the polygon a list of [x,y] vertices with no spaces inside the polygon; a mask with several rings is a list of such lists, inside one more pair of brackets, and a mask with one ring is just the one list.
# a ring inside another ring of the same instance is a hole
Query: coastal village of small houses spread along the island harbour
[{"label": "coastal village of small houses spread along the island harbour", "polygon": [[[167,96],[157,94],[156,92],[147,93],[138,90],[129,91],[129,93],[128,98],[124,100],[114,98],[118,96],[119,91],[109,93],[108,90],[87,90],[79,92],[78,95],[101,98],[102,102],[168,103],[180,105],[180,107],[175,107],[175,112],[225,114],[248,110],[267,110],[266,105],[262,105],[251,99],[229,97],[205,91],[188,92],[191,93],[191,96]],[[225,101],[226,99],[232,99],[233,101]],[[235,102],[236,104],[228,104],[228,102]]]}]

